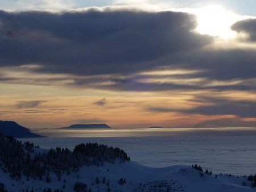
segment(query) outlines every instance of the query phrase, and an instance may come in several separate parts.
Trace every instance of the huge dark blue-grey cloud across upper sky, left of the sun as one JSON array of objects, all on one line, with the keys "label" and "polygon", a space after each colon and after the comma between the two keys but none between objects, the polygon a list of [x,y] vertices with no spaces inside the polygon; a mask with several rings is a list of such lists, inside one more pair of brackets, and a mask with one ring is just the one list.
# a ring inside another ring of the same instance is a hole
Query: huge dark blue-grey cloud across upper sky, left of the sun
[{"label": "huge dark blue-grey cloud across upper sky, left of the sun", "polygon": [[37,63],[38,72],[137,72],[159,65],[148,61],[210,42],[191,32],[194,16],[171,11],[1,11],[0,20],[0,65]]}]

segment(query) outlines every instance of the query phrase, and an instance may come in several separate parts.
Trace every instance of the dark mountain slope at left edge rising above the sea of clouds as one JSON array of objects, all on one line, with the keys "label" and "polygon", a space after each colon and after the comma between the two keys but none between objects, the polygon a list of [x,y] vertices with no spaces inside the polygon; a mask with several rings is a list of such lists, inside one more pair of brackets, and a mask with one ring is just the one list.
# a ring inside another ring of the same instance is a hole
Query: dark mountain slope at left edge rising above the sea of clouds
[{"label": "dark mountain slope at left edge rising above the sea of clouds", "polygon": [[41,135],[31,133],[30,129],[20,126],[16,122],[0,120],[0,132],[5,136],[14,136],[16,138],[43,137]]}]

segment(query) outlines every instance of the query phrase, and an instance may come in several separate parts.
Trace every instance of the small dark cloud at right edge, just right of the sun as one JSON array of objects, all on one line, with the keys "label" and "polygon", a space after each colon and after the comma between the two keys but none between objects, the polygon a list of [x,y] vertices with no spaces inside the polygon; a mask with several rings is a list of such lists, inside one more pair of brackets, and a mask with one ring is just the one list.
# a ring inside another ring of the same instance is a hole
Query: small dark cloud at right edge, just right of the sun
[{"label": "small dark cloud at right edge, just right of the sun", "polygon": [[241,20],[231,27],[237,32],[244,32],[249,35],[247,40],[256,41],[256,19]]}]

